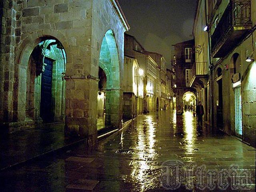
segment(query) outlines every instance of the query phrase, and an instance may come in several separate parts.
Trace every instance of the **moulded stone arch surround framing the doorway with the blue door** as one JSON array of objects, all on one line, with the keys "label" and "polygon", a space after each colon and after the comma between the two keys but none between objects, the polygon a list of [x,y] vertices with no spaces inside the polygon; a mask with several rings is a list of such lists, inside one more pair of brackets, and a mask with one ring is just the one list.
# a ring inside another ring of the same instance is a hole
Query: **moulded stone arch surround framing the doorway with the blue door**
[{"label": "moulded stone arch surround framing the doorway with the blue door", "polygon": [[[65,62],[63,66],[63,71],[65,72],[66,63],[68,55],[70,55],[70,50],[66,43],[66,39],[64,36],[59,32],[52,32],[50,35],[43,35],[42,31],[40,33],[34,32],[27,36],[22,43],[18,46],[16,50],[16,66],[15,66],[15,86],[14,97],[13,99],[13,106],[14,106],[14,121],[25,121],[26,120],[26,107],[27,106],[27,74],[29,62],[31,60],[31,55],[34,49],[38,46],[38,44],[46,39],[56,40],[56,42],[60,42],[61,46],[63,46],[65,50]],[[61,39],[61,40],[59,40]],[[61,78],[61,77],[60,77]],[[63,92],[62,92],[63,93]],[[64,103],[65,104],[65,103]],[[64,106],[61,105],[62,106]],[[64,110],[62,110],[64,114]],[[33,115],[31,115],[32,118]]]}]

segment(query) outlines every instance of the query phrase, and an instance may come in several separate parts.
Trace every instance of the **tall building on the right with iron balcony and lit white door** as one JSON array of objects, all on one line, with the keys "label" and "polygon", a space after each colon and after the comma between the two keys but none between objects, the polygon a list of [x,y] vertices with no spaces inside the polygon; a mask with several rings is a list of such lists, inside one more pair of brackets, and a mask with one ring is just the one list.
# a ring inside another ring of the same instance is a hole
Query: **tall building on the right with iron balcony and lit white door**
[{"label": "tall building on the right with iron balcony and lit white door", "polygon": [[[214,128],[254,147],[255,29],[254,0],[198,1],[194,35],[195,51],[201,52],[201,56],[198,54],[196,62],[207,63],[197,79],[201,80],[204,93],[207,94],[207,97],[204,95],[208,103],[207,119]],[[196,76],[194,79],[196,82]]]}]

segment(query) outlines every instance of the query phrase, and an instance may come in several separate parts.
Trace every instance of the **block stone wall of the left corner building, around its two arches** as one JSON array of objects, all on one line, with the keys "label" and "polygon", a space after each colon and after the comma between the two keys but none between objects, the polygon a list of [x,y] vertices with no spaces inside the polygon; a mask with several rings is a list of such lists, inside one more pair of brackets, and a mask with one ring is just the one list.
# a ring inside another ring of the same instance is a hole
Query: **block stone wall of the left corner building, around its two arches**
[{"label": "block stone wall of the left corner building, around its two arches", "polygon": [[[0,122],[4,129],[24,126],[26,70],[42,38],[64,46],[66,64],[66,136],[96,140],[100,47],[111,29],[116,40],[119,77],[123,74],[124,31],[112,0],[4,0],[1,36]],[[2,49],[4,47],[4,49]],[[4,79],[3,79],[4,77]],[[120,81],[122,82],[122,81]],[[4,86],[2,86],[4,85]],[[115,94],[118,126],[122,119],[122,84]],[[112,118],[113,119],[113,118]]]}]

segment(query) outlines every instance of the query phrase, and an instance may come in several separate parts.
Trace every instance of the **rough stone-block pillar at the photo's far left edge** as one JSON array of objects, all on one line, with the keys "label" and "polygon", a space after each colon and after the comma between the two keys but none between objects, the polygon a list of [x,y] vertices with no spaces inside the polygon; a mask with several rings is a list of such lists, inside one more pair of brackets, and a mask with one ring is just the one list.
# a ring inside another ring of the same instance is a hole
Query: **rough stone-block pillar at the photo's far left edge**
[{"label": "rough stone-block pillar at the photo's far left edge", "polygon": [[[15,28],[16,7],[12,0],[0,3],[1,24],[1,48],[0,48],[0,122],[1,132],[11,132],[10,122],[16,121],[16,106],[13,106],[14,96],[14,50],[15,50]],[[17,99],[15,96],[14,99]]]}]

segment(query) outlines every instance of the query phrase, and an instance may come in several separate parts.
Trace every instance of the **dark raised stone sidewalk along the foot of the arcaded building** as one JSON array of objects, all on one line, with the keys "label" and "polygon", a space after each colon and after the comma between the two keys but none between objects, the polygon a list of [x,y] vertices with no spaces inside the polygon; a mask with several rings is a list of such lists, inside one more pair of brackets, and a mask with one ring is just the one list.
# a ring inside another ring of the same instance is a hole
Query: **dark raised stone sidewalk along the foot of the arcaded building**
[{"label": "dark raised stone sidewalk along the foot of the arcaded building", "polygon": [[[131,120],[123,123],[123,127],[130,122]],[[116,131],[101,130],[98,132],[98,138],[105,138]],[[0,170],[82,141],[84,139],[65,139],[64,124],[0,135]]]}]

